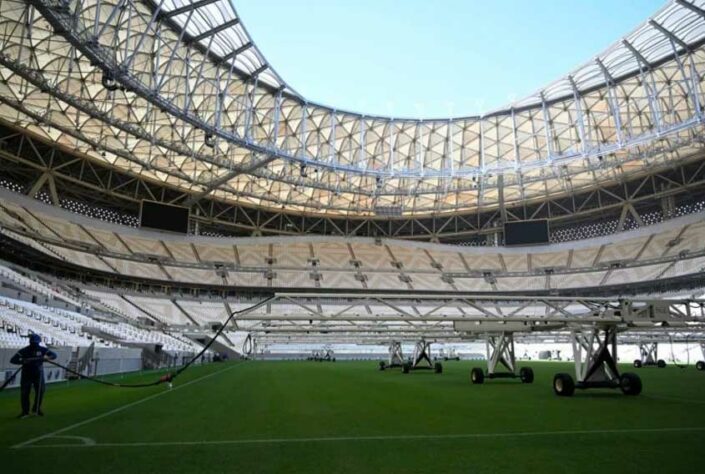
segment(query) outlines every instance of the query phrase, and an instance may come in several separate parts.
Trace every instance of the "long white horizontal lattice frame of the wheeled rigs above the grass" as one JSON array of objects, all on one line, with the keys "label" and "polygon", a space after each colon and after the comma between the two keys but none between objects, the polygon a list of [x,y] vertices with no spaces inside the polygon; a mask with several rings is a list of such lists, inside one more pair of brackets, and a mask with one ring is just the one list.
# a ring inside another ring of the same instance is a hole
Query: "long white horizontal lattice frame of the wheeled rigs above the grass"
[{"label": "long white horizontal lattice frame of the wheeled rigs above the grass", "polygon": [[684,299],[278,293],[268,307],[239,314],[236,326],[269,342],[458,341],[497,333],[560,339],[566,331],[603,326],[628,331],[625,340],[675,333],[694,341],[705,324],[705,302]]}]

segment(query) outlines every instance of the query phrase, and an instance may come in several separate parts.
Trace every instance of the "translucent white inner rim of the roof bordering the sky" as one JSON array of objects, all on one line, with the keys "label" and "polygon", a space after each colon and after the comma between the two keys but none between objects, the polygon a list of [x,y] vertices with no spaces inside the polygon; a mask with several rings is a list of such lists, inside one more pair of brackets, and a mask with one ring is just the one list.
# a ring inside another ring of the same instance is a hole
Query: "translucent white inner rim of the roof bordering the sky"
[{"label": "translucent white inner rim of the roof bordering the sky", "polygon": [[[316,104],[299,95],[281,78],[264,54],[257,48],[238,16],[231,0],[147,0],[162,17],[172,20],[173,26],[184,30],[203,48],[227,64],[275,89],[282,89],[302,102],[336,110],[335,107]],[[644,67],[673,57],[677,48],[699,45],[703,41],[703,10],[697,2],[669,2],[653,19],[645,22],[620,41],[534,94],[508,104],[494,113],[511,109],[541,106],[544,101],[569,98],[574,92],[604,87],[611,81],[637,74]],[[343,112],[343,111],[339,111]],[[351,113],[351,112],[345,112]],[[488,115],[493,115],[490,113]],[[384,118],[384,117],[380,117]],[[391,118],[390,118],[391,119]],[[440,120],[449,120],[441,118]]]}]

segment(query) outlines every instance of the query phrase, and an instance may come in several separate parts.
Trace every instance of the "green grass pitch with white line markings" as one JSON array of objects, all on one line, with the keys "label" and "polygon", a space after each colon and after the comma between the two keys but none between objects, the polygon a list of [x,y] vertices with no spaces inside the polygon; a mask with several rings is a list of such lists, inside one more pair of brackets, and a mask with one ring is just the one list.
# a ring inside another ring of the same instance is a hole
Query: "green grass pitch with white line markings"
[{"label": "green grass pitch with white line markings", "polygon": [[692,366],[639,370],[638,397],[559,398],[551,380],[570,364],[533,363],[531,385],[482,386],[470,384],[473,365],[404,375],[375,362],[212,364],[172,390],[50,385],[46,416],[25,420],[6,390],[0,472],[702,472],[705,373]]}]

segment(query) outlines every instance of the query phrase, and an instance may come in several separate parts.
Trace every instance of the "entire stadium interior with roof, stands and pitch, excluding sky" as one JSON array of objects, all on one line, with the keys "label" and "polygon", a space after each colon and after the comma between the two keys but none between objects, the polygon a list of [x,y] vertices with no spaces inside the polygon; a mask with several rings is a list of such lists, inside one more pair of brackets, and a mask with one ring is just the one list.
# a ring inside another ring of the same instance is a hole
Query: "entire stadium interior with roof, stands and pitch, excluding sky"
[{"label": "entire stadium interior with roof, stands and pitch, excluding sky", "polygon": [[703,464],[705,1],[440,119],[236,7],[0,0],[2,472]]}]

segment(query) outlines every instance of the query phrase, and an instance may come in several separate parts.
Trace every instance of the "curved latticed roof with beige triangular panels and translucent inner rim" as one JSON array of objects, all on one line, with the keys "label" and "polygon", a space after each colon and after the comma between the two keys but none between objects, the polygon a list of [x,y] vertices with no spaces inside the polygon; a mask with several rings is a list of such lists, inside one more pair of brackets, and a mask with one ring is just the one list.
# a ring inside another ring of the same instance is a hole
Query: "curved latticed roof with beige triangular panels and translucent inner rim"
[{"label": "curved latticed roof with beige triangular panels and translucent inner rim", "polygon": [[675,0],[584,66],[480,117],[315,104],[228,0],[3,1],[0,118],[226,202],[328,216],[468,213],[702,158],[705,2]]}]

